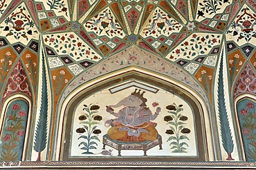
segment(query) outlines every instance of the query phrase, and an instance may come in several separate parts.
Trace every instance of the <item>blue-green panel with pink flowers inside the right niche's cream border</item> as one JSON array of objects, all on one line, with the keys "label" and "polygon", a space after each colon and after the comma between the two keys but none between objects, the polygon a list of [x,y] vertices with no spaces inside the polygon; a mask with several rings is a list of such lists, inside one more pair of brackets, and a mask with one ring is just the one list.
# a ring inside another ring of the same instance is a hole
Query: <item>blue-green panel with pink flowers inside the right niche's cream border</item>
[{"label": "blue-green panel with pink flowers inside the right niche's cream border", "polygon": [[237,104],[237,114],[241,127],[241,135],[244,141],[246,160],[256,161],[256,103],[253,100],[244,99]]}]

